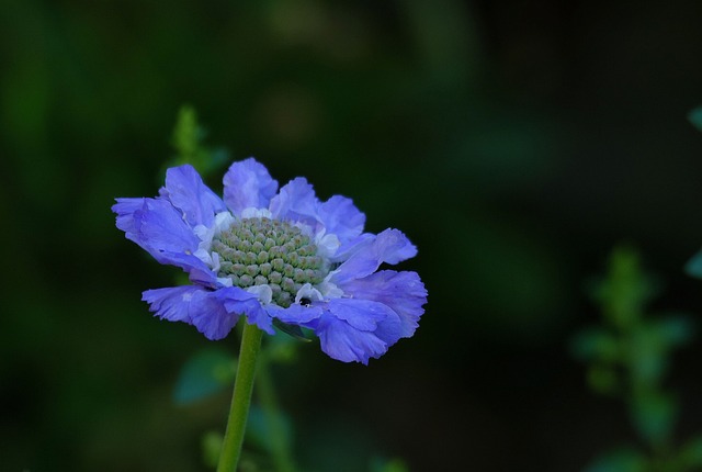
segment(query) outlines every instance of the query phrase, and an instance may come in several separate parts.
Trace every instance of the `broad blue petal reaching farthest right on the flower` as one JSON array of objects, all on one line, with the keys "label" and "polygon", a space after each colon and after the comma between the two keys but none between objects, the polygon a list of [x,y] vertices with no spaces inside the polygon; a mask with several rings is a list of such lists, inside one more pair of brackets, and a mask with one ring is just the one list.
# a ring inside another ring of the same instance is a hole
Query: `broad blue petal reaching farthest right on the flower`
[{"label": "broad blue petal reaching farthest right on the flower", "polygon": [[363,279],[352,280],[341,289],[355,299],[373,300],[389,306],[400,319],[400,337],[408,338],[419,326],[424,313],[427,289],[417,272],[383,270]]}]

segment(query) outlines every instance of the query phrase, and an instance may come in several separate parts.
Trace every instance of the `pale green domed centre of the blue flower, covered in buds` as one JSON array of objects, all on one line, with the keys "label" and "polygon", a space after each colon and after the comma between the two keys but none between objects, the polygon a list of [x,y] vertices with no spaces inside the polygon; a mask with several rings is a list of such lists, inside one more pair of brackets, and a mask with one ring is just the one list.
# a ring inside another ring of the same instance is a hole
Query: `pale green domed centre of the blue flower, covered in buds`
[{"label": "pale green domed centre of the blue flower, covered in buds", "polygon": [[265,217],[242,218],[215,235],[218,277],[242,289],[268,284],[273,303],[288,307],[305,284],[320,283],[329,272],[317,246],[301,228]]}]

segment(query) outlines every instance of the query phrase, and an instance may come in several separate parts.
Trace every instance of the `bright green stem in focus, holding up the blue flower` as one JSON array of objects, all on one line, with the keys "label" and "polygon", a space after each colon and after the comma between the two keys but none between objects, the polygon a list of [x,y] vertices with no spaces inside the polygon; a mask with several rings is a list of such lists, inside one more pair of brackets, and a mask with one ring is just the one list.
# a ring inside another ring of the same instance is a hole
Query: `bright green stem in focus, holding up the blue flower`
[{"label": "bright green stem in focus, holding up the blue flower", "polygon": [[245,323],[244,335],[241,335],[237,378],[234,383],[229,419],[227,420],[227,430],[224,435],[217,472],[235,472],[239,463],[246,422],[249,416],[249,406],[251,405],[256,364],[261,349],[262,337],[263,331],[261,329],[256,325]]}]

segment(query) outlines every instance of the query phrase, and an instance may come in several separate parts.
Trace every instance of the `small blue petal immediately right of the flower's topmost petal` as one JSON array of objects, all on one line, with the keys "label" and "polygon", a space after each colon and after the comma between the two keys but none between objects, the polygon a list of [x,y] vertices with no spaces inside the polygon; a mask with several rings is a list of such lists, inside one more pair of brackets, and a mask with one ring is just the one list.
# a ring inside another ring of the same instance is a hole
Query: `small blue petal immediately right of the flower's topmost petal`
[{"label": "small blue petal immediately right of the flower's topmost petal", "polygon": [[287,182],[271,200],[271,213],[278,220],[303,222],[313,228],[317,224],[319,201],[306,179],[298,177]]}]

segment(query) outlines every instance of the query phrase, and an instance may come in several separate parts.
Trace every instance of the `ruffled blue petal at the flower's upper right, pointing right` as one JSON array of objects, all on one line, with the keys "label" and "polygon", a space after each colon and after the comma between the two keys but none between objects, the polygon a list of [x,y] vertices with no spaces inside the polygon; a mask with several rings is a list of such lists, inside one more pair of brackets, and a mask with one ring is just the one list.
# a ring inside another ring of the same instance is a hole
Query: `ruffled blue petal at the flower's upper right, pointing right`
[{"label": "ruffled blue petal at the flower's upper right, pointing right", "polygon": [[417,248],[398,229],[383,233],[358,245],[358,249],[339,266],[331,278],[336,284],[361,279],[375,272],[381,263],[397,263],[417,255]]}]

